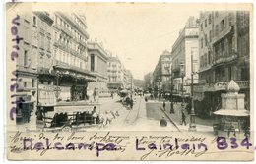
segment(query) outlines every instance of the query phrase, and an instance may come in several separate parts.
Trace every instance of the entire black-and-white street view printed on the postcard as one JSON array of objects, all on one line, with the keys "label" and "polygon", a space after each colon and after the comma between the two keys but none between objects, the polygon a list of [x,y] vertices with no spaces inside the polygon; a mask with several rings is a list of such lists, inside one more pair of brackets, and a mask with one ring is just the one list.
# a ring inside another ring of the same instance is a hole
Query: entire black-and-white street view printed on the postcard
[{"label": "entire black-and-white street view printed on the postcard", "polygon": [[17,130],[250,137],[248,11],[121,11],[15,18]]}]

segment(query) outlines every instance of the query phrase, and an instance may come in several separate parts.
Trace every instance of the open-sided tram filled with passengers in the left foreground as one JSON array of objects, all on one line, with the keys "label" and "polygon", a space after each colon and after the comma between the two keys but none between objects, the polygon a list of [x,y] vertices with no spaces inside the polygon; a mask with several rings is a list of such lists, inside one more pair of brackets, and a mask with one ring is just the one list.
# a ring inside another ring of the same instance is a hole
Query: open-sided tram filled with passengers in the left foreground
[{"label": "open-sided tram filled with passengers in the left foreground", "polygon": [[71,132],[98,126],[100,123],[98,103],[39,105],[37,109],[37,127],[42,131]]}]

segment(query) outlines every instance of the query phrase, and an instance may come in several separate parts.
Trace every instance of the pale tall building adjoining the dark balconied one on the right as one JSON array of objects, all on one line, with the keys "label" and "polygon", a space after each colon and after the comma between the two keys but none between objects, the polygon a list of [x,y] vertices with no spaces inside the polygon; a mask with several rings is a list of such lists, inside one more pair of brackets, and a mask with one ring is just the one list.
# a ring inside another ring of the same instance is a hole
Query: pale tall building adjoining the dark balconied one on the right
[{"label": "pale tall building adjoining the dark balconied one on the right", "polygon": [[[175,92],[190,94],[191,73],[199,69],[199,41],[198,23],[195,17],[190,17],[185,27],[179,32],[179,36],[172,46],[172,75]],[[192,59],[193,57],[193,59]],[[198,83],[198,75],[194,75],[194,83]]]}]

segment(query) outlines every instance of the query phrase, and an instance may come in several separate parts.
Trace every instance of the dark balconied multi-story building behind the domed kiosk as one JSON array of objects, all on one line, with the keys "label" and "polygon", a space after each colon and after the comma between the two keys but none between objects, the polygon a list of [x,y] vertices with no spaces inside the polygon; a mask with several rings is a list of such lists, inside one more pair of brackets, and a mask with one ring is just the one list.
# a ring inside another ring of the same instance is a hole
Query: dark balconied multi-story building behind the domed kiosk
[{"label": "dark balconied multi-story building behind the domed kiosk", "polygon": [[[195,90],[195,109],[202,116],[218,110],[221,94],[231,80],[238,83],[249,104],[249,12],[202,12],[200,25],[201,84]],[[245,107],[249,109],[249,105]]]}]

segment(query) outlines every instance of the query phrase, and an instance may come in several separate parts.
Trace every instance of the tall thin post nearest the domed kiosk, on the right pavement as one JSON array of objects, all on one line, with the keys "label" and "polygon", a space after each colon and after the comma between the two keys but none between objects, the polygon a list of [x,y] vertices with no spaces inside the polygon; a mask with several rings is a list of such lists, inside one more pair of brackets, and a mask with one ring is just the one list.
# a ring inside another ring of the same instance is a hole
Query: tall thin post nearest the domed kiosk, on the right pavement
[{"label": "tall thin post nearest the domed kiosk, on the right pavement", "polygon": [[194,70],[193,70],[193,55],[191,55],[191,114],[189,131],[196,131],[195,123],[195,109],[194,109]]}]

